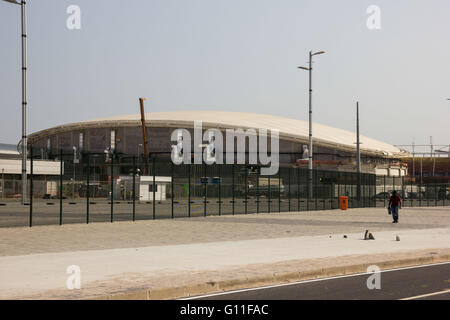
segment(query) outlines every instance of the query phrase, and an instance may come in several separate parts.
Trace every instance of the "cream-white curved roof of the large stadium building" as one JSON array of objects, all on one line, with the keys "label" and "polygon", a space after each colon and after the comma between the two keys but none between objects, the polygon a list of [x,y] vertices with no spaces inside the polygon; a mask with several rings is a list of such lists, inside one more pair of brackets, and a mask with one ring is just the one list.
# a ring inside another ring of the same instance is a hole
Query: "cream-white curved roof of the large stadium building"
[{"label": "cream-white curved roof of the large stadium building", "polygon": [[[294,141],[308,141],[309,125],[307,121],[284,118],[279,116],[225,111],[176,111],[154,112],[145,114],[146,126],[165,126],[176,128],[192,128],[195,120],[202,121],[203,128],[242,128],[242,129],[278,129],[280,139]],[[140,126],[140,114],[123,115],[103,119],[82,121],[42,130],[30,135],[30,138],[39,138],[43,135],[61,131],[76,130],[90,127],[110,126]],[[333,148],[356,148],[356,133],[313,123],[314,143]],[[380,155],[394,155],[401,150],[391,144],[360,136],[361,152],[377,153]]]}]

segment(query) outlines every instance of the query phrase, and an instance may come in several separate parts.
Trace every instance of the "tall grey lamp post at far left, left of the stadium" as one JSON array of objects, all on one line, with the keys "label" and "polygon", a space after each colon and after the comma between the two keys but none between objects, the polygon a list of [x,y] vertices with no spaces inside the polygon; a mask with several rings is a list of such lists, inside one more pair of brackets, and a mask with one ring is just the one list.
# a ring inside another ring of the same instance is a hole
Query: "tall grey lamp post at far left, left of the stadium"
[{"label": "tall grey lamp post at far left, left of the stadium", "polygon": [[27,25],[26,1],[3,0],[21,6],[22,20],[22,204],[27,198]]}]

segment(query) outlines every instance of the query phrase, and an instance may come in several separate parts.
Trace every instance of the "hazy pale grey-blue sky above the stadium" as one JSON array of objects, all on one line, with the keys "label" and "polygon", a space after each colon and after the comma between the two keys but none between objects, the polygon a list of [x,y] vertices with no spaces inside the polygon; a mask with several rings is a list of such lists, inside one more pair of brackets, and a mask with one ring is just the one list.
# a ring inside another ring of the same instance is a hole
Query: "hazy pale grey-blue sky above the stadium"
[{"label": "hazy pale grey-blue sky above the stadium", "polygon": [[[69,30],[66,9],[81,8]],[[368,6],[380,8],[370,30]],[[29,0],[28,132],[146,111],[308,119],[392,144],[450,143],[450,1]],[[0,0],[0,142],[21,136],[20,7]]]}]

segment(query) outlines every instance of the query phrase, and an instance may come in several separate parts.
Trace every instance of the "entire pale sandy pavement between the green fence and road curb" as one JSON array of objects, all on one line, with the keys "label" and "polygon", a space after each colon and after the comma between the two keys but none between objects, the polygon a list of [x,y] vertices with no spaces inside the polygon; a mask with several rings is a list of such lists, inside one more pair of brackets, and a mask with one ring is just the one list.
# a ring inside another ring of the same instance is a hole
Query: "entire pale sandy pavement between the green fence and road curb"
[{"label": "entire pale sandy pavement between the green fence and road curb", "polygon": [[[365,229],[375,241],[362,240]],[[0,298],[86,298],[449,254],[449,230],[442,207],[402,209],[399,224],[371,208],[2,228]],[[69,265],[81,268],[81,290],[65,287]]]}]

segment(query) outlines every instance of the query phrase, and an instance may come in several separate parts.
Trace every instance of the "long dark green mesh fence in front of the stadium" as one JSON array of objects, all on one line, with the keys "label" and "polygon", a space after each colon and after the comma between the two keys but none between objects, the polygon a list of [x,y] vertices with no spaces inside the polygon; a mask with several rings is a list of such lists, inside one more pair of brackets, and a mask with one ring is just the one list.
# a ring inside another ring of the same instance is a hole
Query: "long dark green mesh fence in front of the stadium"
[{"label": "long dark green mesh fence in front of the stadium", "polygon": [[154,156],[60,153],[60,174],[36,175],[33,157],[28,202],[21,181],[1,181],[0,226],[189,218],[387,206],[397,190],[404,206],[448,205],[448,184],[421,184],[411,177],[308,170],[282,166],[263,175],[261,166],[181,164]]}]

